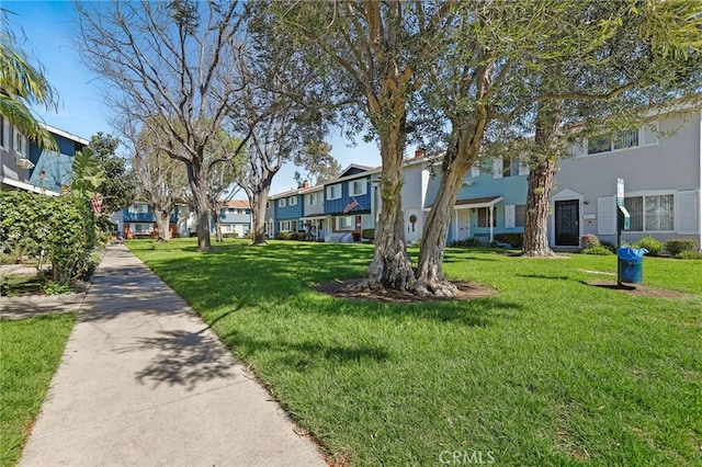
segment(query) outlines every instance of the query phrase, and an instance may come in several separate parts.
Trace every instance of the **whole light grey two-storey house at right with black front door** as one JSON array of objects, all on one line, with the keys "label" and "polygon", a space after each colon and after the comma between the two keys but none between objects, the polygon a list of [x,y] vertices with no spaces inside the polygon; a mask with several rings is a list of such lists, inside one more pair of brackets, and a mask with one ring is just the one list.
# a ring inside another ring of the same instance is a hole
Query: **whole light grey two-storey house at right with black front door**
[{"label": "whole light grey two-storey house at right with black front door", "polygon": [[573,147],[555,179],[550,219],[554,247],[577,247],[586,234],[616,241],[618,179],[631,229],[622,240],[694,238],[702,244],[701,112],[679,110],[627,132]]}]

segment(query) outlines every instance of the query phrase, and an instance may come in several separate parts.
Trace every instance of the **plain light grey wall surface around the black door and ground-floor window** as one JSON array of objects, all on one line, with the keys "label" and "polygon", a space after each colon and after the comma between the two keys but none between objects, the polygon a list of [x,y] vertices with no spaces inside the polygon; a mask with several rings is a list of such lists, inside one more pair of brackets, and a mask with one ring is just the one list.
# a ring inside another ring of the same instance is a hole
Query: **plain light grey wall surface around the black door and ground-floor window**
[{"label": "plain light grey wall surface around the black door and ground-floor window", "polygon": [[[660,241],[672,238],[702,240],[702,167],[700,113],[661,119],[656,137],[639,132],[639,145],[633,148],[580,155],[562,162],[556,175],[553,201],[580,202],[580,236],[597,235],[615,242],[616,179],[624,180],[624,196],[672,195],[672,229],[646,229],[623,232],[622,241],[634,242],[653,236]],[[665,132],[673,132],[668,136]],[[554,204],[552,203],[552,205]],[[550,240],[555,241],[554,216],[550,219]]]}]

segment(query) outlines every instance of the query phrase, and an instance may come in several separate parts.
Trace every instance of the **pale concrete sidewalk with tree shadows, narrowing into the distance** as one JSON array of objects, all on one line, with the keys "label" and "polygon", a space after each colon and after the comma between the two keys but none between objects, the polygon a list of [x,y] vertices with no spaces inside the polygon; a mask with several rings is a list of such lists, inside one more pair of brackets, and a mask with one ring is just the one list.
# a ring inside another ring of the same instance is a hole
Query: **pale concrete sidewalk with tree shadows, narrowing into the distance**
[{"label": "pale concrete sidewalk with tree shadows, narrowing into the distance", "polygon": [[324,466],[188,305],[111,246],[21,466]]}]

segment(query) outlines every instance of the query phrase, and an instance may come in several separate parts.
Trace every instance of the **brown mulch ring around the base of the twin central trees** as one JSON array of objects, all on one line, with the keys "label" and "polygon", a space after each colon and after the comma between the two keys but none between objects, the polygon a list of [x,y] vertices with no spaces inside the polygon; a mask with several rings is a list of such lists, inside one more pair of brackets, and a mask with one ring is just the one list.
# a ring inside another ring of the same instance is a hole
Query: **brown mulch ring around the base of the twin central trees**
[{"label": "brown mulch ring around the base of the twin central trees", "polygon": [[390,291],[390,289],[370,289],[362,288],[360,285],[363,280],[352,278],[347,281],[333,281],[319,284],[313,287],[317,292],[331,295],[337,298],[349,298],[356,300],[383,301],[383,303],[424,303],[424,301],[445,301],[445,300],[471,300],[474,298],[486,298],[497,295],[497,291],[476,282],[456,281],[452,282],[458,289],[454,297],[420,297],[408,292]]}]

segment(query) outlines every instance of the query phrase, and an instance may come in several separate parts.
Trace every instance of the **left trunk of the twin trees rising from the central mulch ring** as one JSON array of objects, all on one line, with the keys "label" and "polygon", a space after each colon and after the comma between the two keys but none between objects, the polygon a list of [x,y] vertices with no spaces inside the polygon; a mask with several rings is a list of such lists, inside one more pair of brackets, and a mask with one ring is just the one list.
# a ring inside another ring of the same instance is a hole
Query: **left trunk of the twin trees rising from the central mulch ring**
[{"label": "left trunk of the twin trees rising from the central mulch ring", "polygon": [[403,148],[404,134],[399,126],[381,138],[383,209],[375,231],[375,255],[363,285],[414,293],[416,280],[405,244],[403,218]]}]

